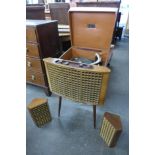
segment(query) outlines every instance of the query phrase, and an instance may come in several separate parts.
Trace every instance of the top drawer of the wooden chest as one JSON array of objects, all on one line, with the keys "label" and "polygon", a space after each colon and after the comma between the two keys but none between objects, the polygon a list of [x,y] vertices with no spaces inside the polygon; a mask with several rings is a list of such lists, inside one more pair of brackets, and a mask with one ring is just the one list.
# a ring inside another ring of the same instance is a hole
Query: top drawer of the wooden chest
[{"label": "top drawer of the wooden chest", "polygon": [[26,27],[26,41],[37,42],[36,30],[34,27]]}]

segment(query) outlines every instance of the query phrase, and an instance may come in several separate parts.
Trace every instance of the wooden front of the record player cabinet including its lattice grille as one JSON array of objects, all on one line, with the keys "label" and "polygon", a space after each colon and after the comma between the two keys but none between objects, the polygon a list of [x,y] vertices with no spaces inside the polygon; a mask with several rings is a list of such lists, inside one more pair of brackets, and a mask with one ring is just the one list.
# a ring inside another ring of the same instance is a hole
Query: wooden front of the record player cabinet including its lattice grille
[{"label": "wooden front of the record player cabinet including its lattice grille", "polygon": [[80,68],[57,64],[57,60],[44,59],[51,92],[80,103],[104,103],[110,69],[96,65]]}]

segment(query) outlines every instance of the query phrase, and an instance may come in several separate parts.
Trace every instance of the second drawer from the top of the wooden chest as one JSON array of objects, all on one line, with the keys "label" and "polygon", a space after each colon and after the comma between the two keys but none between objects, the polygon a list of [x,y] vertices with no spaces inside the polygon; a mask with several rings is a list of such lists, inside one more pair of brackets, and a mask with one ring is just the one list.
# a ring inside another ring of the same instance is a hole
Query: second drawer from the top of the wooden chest
[{"label": "second drawer from the top of the wooden chest", "polygon": [[27,43],[26,55],[39,58],[39,46],[38,44]]}]

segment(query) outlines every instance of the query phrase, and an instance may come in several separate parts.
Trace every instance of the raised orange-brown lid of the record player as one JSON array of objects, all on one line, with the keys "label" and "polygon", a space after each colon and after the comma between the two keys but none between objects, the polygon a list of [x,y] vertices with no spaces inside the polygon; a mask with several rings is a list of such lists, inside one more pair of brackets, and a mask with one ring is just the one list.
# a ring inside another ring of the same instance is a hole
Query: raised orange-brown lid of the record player
[{"label": "raised orange-brown lid of the record player", "polygon": [[110,49],[117,8],[72,7],[69,22],[72,46]]}]

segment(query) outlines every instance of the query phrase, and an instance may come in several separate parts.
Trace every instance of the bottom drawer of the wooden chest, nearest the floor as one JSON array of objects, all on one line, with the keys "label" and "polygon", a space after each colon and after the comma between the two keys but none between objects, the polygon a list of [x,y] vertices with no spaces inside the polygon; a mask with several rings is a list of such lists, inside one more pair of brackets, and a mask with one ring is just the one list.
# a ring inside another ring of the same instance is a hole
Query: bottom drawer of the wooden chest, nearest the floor
[{"label": "bottom drawer of the wooden chest, nearest the floor", "polygon": [[27,70],[26,81],[36,85],[45,86],[43,74],[32,70]]}]

